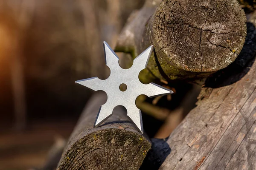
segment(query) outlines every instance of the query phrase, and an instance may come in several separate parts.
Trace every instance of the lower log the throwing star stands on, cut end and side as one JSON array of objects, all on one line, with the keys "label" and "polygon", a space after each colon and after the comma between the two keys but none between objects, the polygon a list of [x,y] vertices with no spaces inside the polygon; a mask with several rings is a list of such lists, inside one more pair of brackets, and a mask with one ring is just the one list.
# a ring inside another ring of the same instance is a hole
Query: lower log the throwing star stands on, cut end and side
[{"label": "lower log the throwing star stands on, cut end and side", "polygon": [[121,108],[101,126],[93,128],[106,94],[96,92],[87,102],[67,142],[58,170],[130,170],[139,169],[151,142],[128,120]]}]

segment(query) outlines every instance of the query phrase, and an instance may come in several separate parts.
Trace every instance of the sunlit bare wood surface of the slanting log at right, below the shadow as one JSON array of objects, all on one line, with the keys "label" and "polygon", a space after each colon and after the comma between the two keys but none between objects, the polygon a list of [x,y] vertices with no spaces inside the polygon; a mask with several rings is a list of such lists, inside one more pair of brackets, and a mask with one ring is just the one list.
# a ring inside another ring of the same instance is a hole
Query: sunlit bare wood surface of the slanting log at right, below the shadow
[{"label": "sunlit bare wood surface of the slanting log at right, below the shadow", "polygon": [[[256,63],[238,82],[214,88],[169,137],[172,152],[161,169],[225,169],[230,159],[244,159],[234,153],[243,140],[248,141],[255,122],[255,88]],[[237,160],[232,162],[241,166]]]}]

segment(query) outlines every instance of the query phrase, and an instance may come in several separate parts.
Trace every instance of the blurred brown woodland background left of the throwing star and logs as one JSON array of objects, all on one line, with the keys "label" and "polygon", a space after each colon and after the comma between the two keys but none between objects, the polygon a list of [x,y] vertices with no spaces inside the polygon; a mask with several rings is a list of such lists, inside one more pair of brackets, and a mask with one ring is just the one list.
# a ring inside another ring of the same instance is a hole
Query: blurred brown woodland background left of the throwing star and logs
[{"label": "blurred brown woodland background left of the throwing star and logs", "polygon": [[108,76],[102,42],[143,3],[0,1],[0,170],[41,168],[64,145],[91,94],[74,82]]}]

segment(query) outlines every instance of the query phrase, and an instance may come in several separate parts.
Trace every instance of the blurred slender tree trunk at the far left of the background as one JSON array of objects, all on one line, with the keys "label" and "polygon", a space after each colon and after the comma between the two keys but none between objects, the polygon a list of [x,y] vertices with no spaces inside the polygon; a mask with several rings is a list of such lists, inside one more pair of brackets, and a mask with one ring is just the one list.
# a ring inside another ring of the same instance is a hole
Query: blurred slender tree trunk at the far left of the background
[{"label": "blurred slender tree trunk at the far left of the background", "polygon": [[20,11],[17,12],[17,21],[20,26],[20,34],[17,37],[17,54],[14,54],[14,60],[12,65],[12,84],[14,88],[15,99],[15,117],[16,117],[16,129],[22,130],[26,126],[26,88],[25,88],[25,74],[24,74],[24,59],[23,44],[26,37],[26,30],[30,26],[33,13],[35,9],[35,0],[23,0],[21,1]]}]

